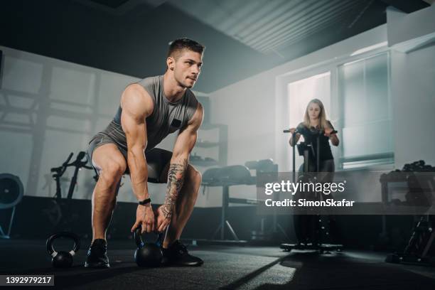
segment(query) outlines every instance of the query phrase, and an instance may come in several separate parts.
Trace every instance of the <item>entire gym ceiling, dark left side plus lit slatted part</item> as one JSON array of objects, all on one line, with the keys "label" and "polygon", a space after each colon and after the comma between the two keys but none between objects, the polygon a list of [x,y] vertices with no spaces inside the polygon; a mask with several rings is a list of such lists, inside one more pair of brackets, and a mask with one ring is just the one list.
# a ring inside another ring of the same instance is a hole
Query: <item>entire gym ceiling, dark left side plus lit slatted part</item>
[{"label": "entire gym ceiling, dark left side plus lit slatted part", "polygon": [[164,72],[168,42],[206,45],[213,92],[386,22],[414,0],[5,0],[0,45],[134,77]]}]

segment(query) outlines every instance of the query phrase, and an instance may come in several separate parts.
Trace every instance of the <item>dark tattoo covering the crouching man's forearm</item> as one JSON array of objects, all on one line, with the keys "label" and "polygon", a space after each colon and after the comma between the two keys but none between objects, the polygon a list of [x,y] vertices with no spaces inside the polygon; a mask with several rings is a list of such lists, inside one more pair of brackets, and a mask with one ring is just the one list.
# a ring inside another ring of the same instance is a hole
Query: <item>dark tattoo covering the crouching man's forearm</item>
[{"label": "dark tattoo covering the crouching man's forearm", "polygon": [[180,163],[171,163],[168,171],[168,188],[166,190],[165,203],[163,203],[163,215],[165,218],[171,218],[173,207],[176,204],[178,193],[184,183],[184,175],[188,165],[187,159]]}]

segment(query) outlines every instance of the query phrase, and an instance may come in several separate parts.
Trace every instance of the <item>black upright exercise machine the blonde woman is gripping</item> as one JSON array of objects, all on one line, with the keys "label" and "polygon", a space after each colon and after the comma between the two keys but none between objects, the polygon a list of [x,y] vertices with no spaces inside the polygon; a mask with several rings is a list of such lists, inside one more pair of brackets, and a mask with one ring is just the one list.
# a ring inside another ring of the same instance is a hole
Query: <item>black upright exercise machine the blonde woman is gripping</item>
[{"label": "black upright exercise machine the blonde woman is gripping", "polygon": [[[289,133],[290,130],[284,130],[284,133]],[[335,134],[337,131],[332,131],[331,134]],[[293,141],[293,181],[296,181],[296,134],[301,134],[296,130],[292,134],[291,140]],[[303,183],[313,183],[317,181],[319,165],[320,165],[320,137],[324,134],[322,130],[310,130],[310,139],[300,144],[297,144],[298,153],[300,156],[304,156],[304,170],[302,174],[299,174],[298,180]],[[313,146],[313,140],[316,139],[316,146]],[[316,148],[315,148],[316,147]],[[316,157],[316,163],[314,171],[312,169],[311,160],[313,156]],[[311,171],[311,172],[310,172]],[[300,194],[300,193],[299,193]],[[304,193],[307,198],[312,200],[320,200],[323,198],[322,193]],[[330,237],[330,231],[328,230],[328,223],[331,221],[329,216],[321,215],[294,215],[294,228],[296,232],[296,238],[298,242],[296,244],[281,244],[280,248],[286,252],[290,252],[292,249],[310,249],[317,250],[321,254],[329,253],[330,250],[337,250],[340,252],[343,249],[343,245],[340,244],[328,244],[325,242],[326,236]]]}]

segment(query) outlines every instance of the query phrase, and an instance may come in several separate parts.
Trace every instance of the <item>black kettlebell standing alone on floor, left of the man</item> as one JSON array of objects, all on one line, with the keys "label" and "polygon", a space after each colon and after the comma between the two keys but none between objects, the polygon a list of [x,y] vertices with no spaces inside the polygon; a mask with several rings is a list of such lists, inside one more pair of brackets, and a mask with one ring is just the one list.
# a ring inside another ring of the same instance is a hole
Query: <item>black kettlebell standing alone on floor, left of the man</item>
[{"label": "black kettlebell standing alone on floor, left of the man", "polygon": [[[74,247],[70,250],[70,252],[55,251],[55,249],[53,248],[53,242],[59,237],[68,237],[74,240]],[[80,238],[73,232],[58,232],[48,238],[46,245],[48,254],[53,257],[53,259],[51,259],[51,264],[53,265],[53,267],[69,268],[73,266],[73,256],[80,248]]]}]

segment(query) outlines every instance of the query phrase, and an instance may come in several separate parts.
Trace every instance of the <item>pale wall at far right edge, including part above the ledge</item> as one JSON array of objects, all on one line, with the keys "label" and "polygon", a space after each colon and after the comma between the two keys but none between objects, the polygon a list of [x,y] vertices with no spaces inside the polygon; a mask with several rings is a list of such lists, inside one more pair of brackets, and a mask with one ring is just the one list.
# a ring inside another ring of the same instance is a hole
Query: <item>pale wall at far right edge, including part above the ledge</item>
[{"label": "pale wall at far right edge, including part above the ledge", "polygon": [[435,165],[435,6],[403,14],[387,11],[392,45],[395,163]]}]

